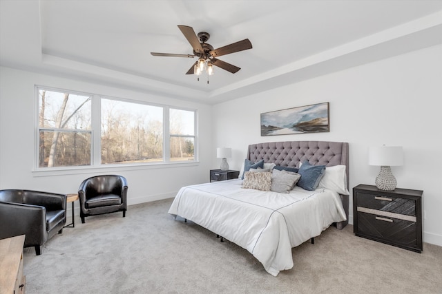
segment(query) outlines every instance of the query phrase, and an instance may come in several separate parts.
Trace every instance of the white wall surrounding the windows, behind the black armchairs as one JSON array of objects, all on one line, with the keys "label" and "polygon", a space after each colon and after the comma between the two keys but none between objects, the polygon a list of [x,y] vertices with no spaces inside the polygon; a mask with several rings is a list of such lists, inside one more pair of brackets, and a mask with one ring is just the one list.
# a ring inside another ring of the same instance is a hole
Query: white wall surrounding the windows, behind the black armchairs
[{"label": "white wall surrounding the windows, behind the black armchairs", "polygon": [[[36,84],[198,109],[200,163],[137,168],[105,167],[82,169],[79,172],[56,172],[52,175],[32,171],[35,162]],[[184,185],[208,180],[213,155],[211,134],[209,105],[0,67],[0,189],[75,193],[81,181],[89,176],[121,174],[128,180],[128,204],[171,198]],[[79,213],[78,210],[75,212]]]}]

